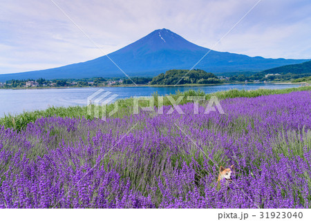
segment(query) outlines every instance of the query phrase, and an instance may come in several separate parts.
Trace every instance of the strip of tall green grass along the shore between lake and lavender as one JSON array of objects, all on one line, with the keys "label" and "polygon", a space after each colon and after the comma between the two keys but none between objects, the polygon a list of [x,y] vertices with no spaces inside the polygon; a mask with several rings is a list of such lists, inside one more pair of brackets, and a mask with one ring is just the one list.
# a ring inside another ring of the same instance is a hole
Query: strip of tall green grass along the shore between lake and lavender
[{"label": "strip of tall green grass along the shore between lake and lavender", "polygon": [[[311,91],[311,86],[305,87],[294,87],[294,88],[282,88],[282,89],[272,89],[272,88],[257,88],[255,90],[238,90],[237,88],[231,90],[218,90],[214,93],[205,93],[202,91],[191,91],[185,90],[184,92],[178,92],[174,94],[170,94],[169,96],[173,97],[174,100],[178,99],[178,97],[182,96],[182,100],[179,101],[178,105],[187,104],[191,102],[190,99],[187,99],[187,96],[204,96],[205,99],[210,99],[212,96],[216,96],[218,99],[227,99],[233,97],[259,97],[263,95],[274,95],[274,94],[284,94],[284,93],[292,93],[294,91],[301,90],[309,90]],[[150,96],[150,94],[149,94]],[[171,105],[171,99],[168,99],[167,95],[153,95],[153,96],[162,96],[163,102],[162,105],[168,106]],[[0,99],[1,100],[1,99]],[[133,98],[131,97],[123,97],[120,102],[122,102],[122,106],[120,106],[121,110],[126,110],[126,108],[133,107]],[[138,104],[140,106],[145,106],[146,104]],[[157,106],[157,104],[156,104]],[[1,106],[0,106],[1,108]],[[113,103],[107,104],[106,110],[113,110],[115,105]],[[122,112],[122,111],[121,111]],[[127,112],[127,111],[126,111]],[[122,112],[125,113],[125,112]],[[82,106],[74,105],[74,106],[48,106],[44,109],[35,109],[35,110],[23,110],[20,113],[11,114],[4,113],[1,116],[0,111],[0,127],[4,125],[6,127],[15,128],[20,130],[21,128],[25,128],[28,123],[34,123],[37,119],[42,117],[86,117],[87,119],[94,119],[94,115],[88,114],[88,105],[84,104]]]}]

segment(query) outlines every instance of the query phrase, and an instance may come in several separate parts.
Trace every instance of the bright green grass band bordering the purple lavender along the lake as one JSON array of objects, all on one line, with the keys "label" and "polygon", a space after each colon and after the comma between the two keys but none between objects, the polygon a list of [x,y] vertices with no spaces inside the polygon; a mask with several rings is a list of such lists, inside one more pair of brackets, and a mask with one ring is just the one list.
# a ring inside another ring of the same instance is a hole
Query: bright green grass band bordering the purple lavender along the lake
[{"label": "bright green grass band bordering the purple lavender along the lake", "polygon": [[[225,90],[218,91],[212,94],[205,94],[201,90],[188,90],[185,93],[177,92],[174,95],[170,95],[174,100],[177,100],[178,97],[184,96],[179,104],[187,104],[191,102],[187,99],[187,96],[205,96],[208,100],[211,96],[216,96],[218,99],[227,99],[234,97],[258,97],[263,95],[274,95],[274,94],[284,94],[291,93],[293,91],[299,90],[311,90],[311,86],[299,87],[299,88],[285,88],[285,89],[257,89],[257,90]],[[155,99],[155,106],[158,106],[158,94],[153,94]],[[139,103],[140,106],[148,106],[149,103],[147,101],[142,101]],[[167,96],[163,97],[163,105],[171,105]],[[129,115],[133,108],[133,98],[129,99],[120,99],[118,100],[119,111],[113,117],[122,117],[123,115]],[[113,110],[113,104],[108,105],[107,113]],[[44,111],[32,111],[32,112],[24,112],[19,115],[5,115],[0,118],[0,125],[5,126],[6,128],[14,128],[17,131],[21,131],[23,128],[26,128],[27,124],[30,122],[35,122],[37,119],[41,117],[85,117],[86,119],[92,119],[93,116],[87,115],[87,107],[86,106],[69,106],[69,107],[50,107]]]}]

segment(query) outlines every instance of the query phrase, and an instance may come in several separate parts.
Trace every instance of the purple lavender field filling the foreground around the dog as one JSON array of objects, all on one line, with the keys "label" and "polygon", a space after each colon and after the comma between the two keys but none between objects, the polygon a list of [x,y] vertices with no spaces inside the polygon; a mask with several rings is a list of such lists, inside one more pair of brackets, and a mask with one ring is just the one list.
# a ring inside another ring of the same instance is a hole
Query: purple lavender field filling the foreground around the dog
[{"label": "purple lavender field filling the foreground around the dog", "polygon": [[[311,208],[311,91],[0,128],[1,208]],[[219,166],[233,182],[217,187]]]}]

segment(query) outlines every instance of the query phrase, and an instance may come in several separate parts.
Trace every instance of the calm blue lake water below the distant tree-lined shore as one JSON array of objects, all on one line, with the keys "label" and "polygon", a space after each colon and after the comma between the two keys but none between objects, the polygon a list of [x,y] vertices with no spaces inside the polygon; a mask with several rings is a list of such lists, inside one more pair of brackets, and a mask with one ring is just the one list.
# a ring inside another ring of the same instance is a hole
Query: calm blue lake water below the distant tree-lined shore
[{"label": "calm blue lake water below the distant tree-lined shore", "polygon": [[[176,86],[176,87],[109,87],[102,88],[116,94],[116,99],[133,96],[149,96],[155,92],[159,95],[167,95],[193,89],[202,90],[205,93],[214,93],[219,90],[237,88],[239,90],[254,90],[258,88],[294,88],[299,84],[223,84],[217,86]],[[44,110],[49,106],[76,106],[86,105],[88,96],[91,96],[100,88],[55,88],[55,89],[28,89],[28,90],[0,90],[0,117],[5,114],[19,114],[23,111]],[[109,95],[109,96],[111,96]],[[109,97],[107,96],[107,97]]]}]

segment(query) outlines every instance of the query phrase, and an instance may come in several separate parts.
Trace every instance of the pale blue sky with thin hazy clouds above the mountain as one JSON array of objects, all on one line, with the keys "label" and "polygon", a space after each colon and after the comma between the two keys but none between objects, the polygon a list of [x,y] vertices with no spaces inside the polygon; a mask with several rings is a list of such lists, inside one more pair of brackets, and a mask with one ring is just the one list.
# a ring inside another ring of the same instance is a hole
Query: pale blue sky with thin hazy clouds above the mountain
[{"label": "pale blue sky with thin hazy clouds above the mountain", "polygon": [[[211,48],[258,0],[53,1],[109,53],[159,28]],[[310,0],[262,0],[214,50],[310,59],[310,12]],[[0,74],[102,55],[52,1],[1,0]]]}]

